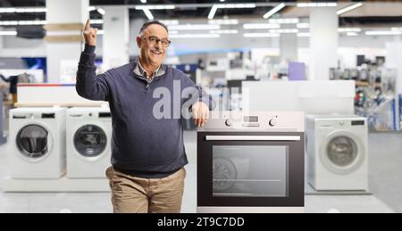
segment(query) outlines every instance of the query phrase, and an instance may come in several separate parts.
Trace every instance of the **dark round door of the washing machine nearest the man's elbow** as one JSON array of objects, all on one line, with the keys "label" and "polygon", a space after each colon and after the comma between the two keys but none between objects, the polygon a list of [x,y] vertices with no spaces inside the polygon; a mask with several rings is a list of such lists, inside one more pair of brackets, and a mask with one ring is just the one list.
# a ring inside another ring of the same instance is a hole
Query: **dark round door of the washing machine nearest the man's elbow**
[{"label": "dark round door of the washing machine nearest the man's elbow", "polygon": [[107,136],[104,129],[96,125],[85,125],[79,128],[74,135],[74,146],[83,157],[97,157],[104,153],[107,145]]}]

